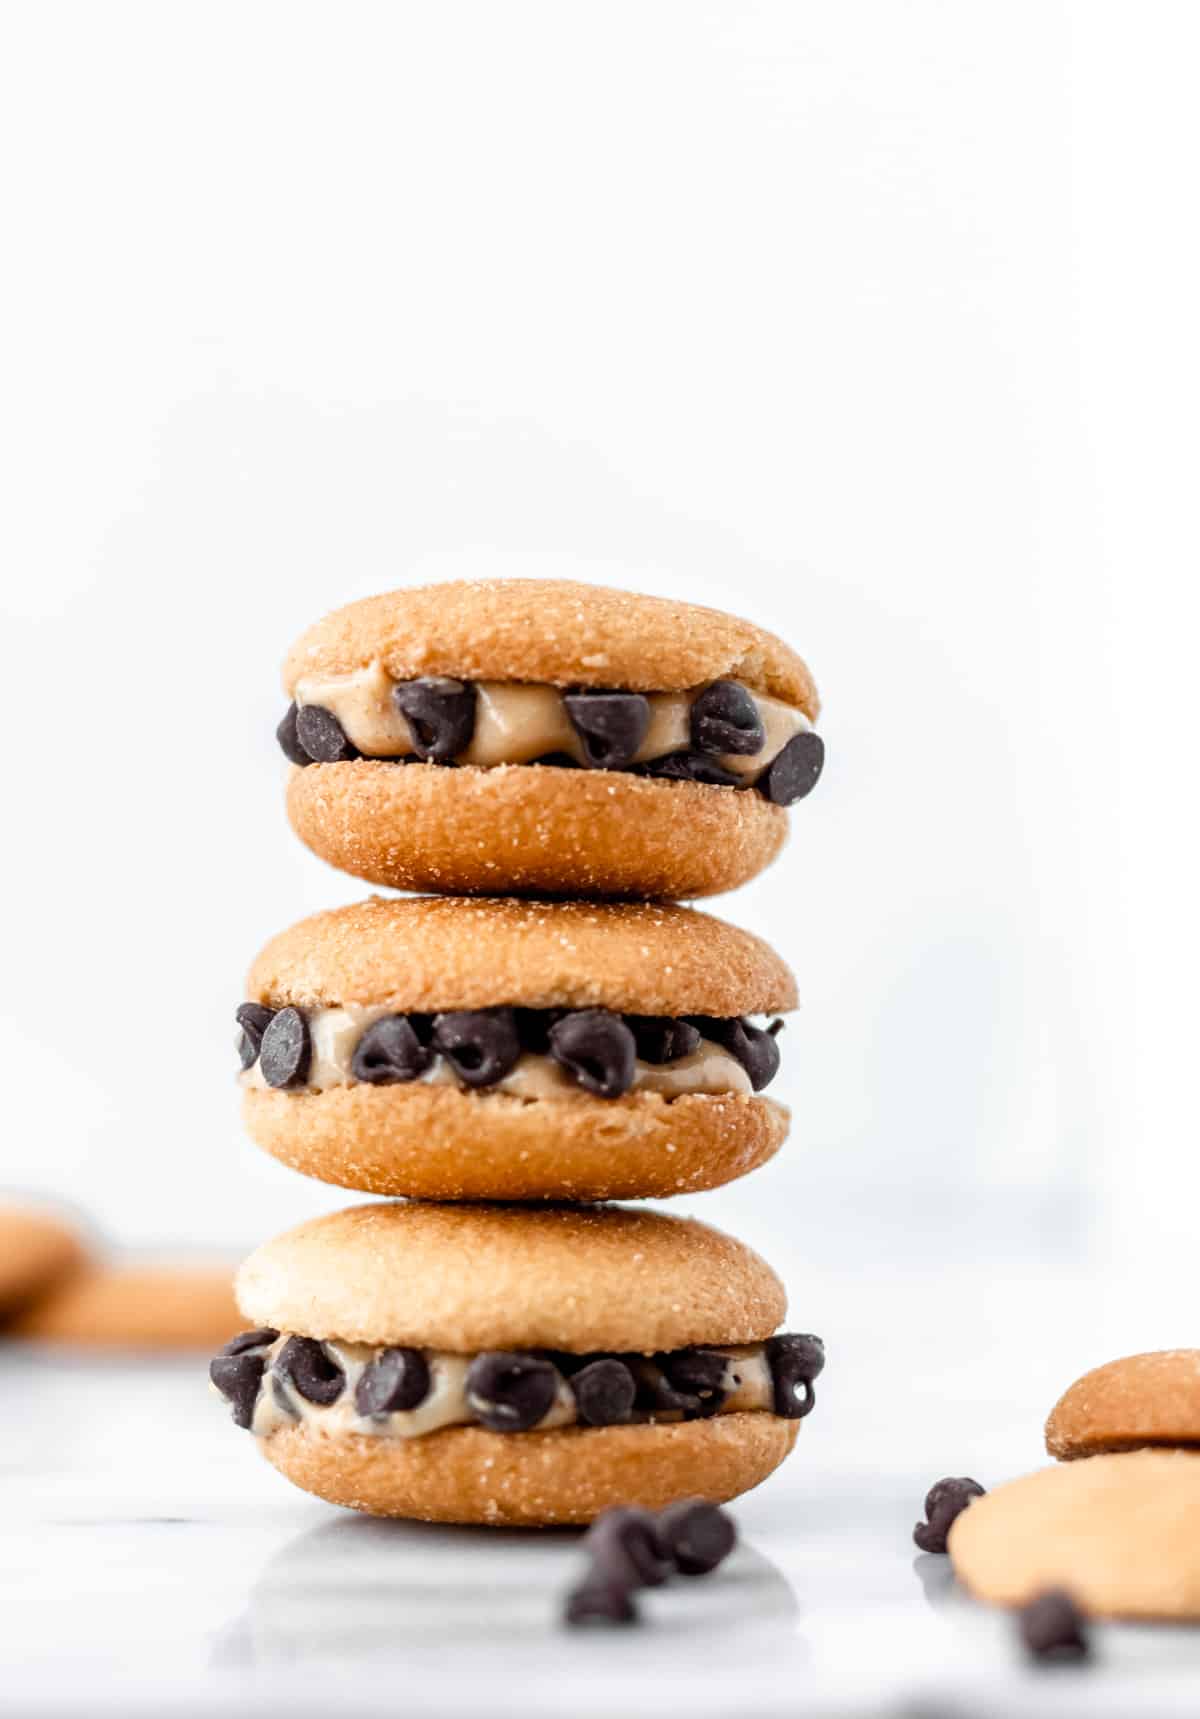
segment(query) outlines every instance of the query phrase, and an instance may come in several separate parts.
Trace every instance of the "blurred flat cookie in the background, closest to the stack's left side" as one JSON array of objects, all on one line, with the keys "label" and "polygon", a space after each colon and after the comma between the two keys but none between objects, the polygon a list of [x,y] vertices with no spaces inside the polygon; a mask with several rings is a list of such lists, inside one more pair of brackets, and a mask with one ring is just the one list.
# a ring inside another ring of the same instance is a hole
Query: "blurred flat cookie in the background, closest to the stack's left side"
[{"label": "blurred flat cookie in the background, closest to the stack's left side", "polygon": [[10,1336],[100,1349],[206,1349],[241,1324],[229,1265],[86,1265],[29,1305]]}]

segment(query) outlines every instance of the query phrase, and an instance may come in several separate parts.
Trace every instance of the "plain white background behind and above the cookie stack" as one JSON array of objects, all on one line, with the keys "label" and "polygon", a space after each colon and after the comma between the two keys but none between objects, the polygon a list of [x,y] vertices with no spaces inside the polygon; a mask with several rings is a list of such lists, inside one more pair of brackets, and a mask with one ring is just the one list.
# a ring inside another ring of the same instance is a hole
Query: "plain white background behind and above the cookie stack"
[{"label": "plain white background behind and above the cookie stack", "polygon": [[693,1207],[1166,1293],[1198,46],[1155,3],[7,9],[0,1181],[132,1245],[339,1203],[234,1093],[256,947],[363,892],[287,830],[279,662],[567,574],[753,615],[825,696],[715,904],[799,973],[793,1141]]}]

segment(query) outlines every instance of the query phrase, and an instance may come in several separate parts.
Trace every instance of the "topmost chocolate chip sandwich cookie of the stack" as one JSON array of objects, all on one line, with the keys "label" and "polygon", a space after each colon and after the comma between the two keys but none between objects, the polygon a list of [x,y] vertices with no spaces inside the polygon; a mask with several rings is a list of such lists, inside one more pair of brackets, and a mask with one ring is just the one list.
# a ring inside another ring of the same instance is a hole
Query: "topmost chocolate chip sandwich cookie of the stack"
[{"label": "topmost chocolate chip sandwich cookie of the stack", "polygon": [[351,603],[284,688],[296,834],[392,889],[712,896],[775,858],[823,763],[770,633],[559,579]]}]

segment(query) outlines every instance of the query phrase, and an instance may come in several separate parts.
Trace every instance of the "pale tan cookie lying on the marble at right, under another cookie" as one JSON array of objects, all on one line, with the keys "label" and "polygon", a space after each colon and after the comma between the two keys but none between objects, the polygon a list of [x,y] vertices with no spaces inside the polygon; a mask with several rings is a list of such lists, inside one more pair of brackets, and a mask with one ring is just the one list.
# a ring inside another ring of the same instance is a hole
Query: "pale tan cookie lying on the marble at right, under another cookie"
[{"label": "pale tan cookie lying on the marble at right, under another cookie", "polygon": [[1066,1588],[1097,1618],[1200,1618],[1200,1453],[1143,1449],[1042,1468],[971,1502],[949,1532],[982,1600]]}]

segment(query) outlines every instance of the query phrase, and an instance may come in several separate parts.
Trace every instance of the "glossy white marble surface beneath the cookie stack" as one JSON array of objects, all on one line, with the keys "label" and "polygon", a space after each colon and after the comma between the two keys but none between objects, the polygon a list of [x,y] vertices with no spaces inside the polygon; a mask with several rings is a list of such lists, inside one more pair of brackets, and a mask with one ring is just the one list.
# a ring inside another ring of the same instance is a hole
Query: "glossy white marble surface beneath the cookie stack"
[{"label": "glossy white marble surface beneath the cookie stack", "polygon": [[1014,1389],[1009,1420],[977,1404],[970,1458],[952,1422],[954,1461],[903,1389],[904,1343],[879,1361],[870,1389],[830,1372],[793,1461],[736,1506],[719,1575],[646,1595],[638,1630],[567,1633],[576,1535],[359,1520],[258,1459],[199,1360],[5,1349],[0,1710],[1195,1716],[1200,1631],[1105,1628],[1093,1666],[1038,1671],[916,1554],[930,1480],[1001,1478],[1035,1441]]}]

